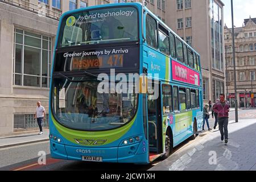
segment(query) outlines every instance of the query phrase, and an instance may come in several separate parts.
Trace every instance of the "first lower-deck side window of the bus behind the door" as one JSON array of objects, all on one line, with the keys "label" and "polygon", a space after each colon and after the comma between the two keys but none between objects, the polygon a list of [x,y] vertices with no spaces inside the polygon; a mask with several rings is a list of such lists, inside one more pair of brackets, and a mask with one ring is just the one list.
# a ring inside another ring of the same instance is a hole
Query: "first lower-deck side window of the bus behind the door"
[{"label": "first lower-deck side window of the bus behind the door", "polygon": [[163,114],[172,113],[172,87],[163,85]]}]

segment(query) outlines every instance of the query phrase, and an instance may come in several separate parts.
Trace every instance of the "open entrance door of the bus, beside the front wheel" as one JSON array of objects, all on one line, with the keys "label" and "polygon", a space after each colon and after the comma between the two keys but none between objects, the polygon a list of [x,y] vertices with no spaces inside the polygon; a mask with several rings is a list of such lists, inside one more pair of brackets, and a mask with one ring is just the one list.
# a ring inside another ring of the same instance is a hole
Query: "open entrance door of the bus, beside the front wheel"
[{"label": "open entrance door of the bus, beside the front wheel", "polygon": [[151,159],[163,153],[160,84],[152,85],[152,87],[158,88],[154,89],[158,94],[148,93],[147,95],[148,142]]}]

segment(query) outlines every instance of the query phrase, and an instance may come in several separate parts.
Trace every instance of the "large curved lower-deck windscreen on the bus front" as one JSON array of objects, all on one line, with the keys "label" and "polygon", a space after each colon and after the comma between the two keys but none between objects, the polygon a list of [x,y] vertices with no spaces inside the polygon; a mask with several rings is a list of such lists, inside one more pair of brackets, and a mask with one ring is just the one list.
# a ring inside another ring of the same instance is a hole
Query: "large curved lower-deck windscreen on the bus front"
[{"label": "large curved lower-deck windscreen on the bus front", "polygon": [[102,94],[97,92],[100,82],[92,77],[71,79],[77,82],[53,78],[52,110],[62,125],[86,131],[113,130],[133,119],[138,105],[135,85],[132,93],[125,90],[118,94],[108,90]]}]

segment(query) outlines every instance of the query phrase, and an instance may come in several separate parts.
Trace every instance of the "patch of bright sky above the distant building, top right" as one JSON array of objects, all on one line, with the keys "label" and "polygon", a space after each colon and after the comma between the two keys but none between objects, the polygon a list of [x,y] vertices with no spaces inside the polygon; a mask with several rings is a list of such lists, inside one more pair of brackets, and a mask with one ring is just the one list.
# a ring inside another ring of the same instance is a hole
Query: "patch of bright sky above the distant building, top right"
[{"label": "patch of bright sky above the distant building, top right", "polygon": [[[224,6],[224,23],[232,28],[231,0],[221,0]],[[234,26],[242,27],[243,19],[256,18],[256,0],[233,0]]]}]

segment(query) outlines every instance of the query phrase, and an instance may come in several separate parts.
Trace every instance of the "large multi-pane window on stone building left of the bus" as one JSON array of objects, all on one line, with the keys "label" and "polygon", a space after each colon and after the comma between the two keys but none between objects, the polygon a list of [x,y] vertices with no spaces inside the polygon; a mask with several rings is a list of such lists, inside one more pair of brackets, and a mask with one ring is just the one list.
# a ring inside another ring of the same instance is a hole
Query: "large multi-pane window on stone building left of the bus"
[{"label": "large multi-pane window on stone building left of the bus", "polygon": [[15,29],[14,85],[49,88],[52,40]]}]

